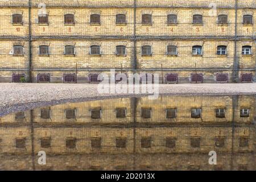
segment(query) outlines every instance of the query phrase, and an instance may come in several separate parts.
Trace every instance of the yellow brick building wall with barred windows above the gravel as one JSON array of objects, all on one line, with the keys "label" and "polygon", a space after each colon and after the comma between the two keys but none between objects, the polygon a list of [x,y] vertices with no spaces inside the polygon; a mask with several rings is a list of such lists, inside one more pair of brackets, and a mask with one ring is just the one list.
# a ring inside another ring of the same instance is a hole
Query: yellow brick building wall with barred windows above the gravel
[{"label": "yellow brick building wall with barred windows above the gravel", "polygon": [[110,69],[158,73],[160,83],[256,80],[254,0],[9,0],[0,7],[1,82],[97,82]]}]

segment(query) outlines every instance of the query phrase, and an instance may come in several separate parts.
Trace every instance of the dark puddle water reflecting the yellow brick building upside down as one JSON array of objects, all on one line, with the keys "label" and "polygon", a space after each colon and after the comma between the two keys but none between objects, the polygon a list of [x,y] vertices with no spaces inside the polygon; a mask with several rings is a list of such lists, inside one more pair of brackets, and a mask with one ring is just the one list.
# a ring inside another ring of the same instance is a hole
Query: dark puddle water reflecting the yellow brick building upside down
[{"label": "dark puddle water reflecting the yellow brick building upside down", "polygon": [[[191,118],[194,108],[201,109],[200,118]],[[216,118],[218,108],[225,109],[225,118]],[[49,119],[42,118],[47,109]],[[125,118],[116,118],[118,109]],[[150,118],[142,118],[142,109],[150,110]],[[176,118],[167,119],[166,109],[176,109]],[[249,117],[241,117],[241,109],[249,109]],[[255,169],[254,116],[255,96],[120,98],[44,107],[1,118],[0,168]],[[46,166],[37,163],[41,150]],[[217,166],[208,164],[212,150]]]}]

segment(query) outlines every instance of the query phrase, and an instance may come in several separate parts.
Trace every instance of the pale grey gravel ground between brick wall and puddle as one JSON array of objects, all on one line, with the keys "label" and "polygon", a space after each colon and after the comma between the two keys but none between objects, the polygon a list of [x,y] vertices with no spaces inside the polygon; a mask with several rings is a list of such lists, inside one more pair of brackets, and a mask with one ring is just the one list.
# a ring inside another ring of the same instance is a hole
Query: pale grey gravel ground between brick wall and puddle
[{"label": "pale grey gravel ground between brick wall and puddle", "polygon": [[[97,84],[0,84],[0,116],[36,107],[102,100],[106,98],[147,96],[148,94],[99,94]],[[256,94],[256,83],[250,84],[159,84],[160,95],[224,96]]]}]

